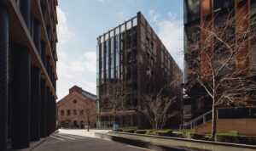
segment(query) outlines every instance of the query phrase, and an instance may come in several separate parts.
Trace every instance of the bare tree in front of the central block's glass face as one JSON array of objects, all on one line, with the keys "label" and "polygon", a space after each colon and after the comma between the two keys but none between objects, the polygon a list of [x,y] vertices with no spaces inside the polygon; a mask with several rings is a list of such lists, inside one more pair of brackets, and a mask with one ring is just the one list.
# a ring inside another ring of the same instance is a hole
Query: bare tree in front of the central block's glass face
[{"label": "bare tree in front of the central block's glass face", "polygon": [[128,96],[131,94],[131,90],[125,87],[125,83],[122,81],[114,83],[108,82],[105,86],[108,88],[101,94],[101,100],[102,103],[104,103],[104,109],[112,112],[113,124],[115,124],[118,111],[132,109],[132,106],[126,103]]}]

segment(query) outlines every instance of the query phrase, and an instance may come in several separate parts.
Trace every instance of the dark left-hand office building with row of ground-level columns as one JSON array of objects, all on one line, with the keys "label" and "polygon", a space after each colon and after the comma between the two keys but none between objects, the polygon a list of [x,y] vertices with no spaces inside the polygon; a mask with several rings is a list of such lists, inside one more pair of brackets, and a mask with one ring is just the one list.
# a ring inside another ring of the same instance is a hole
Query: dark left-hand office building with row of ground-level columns
[{"label": "dark left-hand office building with row of ground-level columns", "polygon": [[55,131],[57,0],[0,1],[0,150]]}]

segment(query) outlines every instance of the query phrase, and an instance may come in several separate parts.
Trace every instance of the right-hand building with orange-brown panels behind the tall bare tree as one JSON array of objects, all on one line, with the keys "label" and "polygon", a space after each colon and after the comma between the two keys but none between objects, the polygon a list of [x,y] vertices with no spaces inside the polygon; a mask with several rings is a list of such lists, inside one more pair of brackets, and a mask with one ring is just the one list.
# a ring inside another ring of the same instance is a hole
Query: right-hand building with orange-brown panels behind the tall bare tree
[{"label": "right-hand building with orange-brown panels behind the tall bare tree", "polygon": [[[203,25],[220,25],[224,24],[221,22],[224,17],[227,16],[230,12],[230,16],[234,17],[235,20],[241,20],[240,16],[244,15],[250,16],[250,19],[247,20],[250,24],[253,20],[255,20],[256,16],[256,1],[254,0],[184,0],[183,1],[183,11],[184,11],[184,54],[189,51],[189,38],[193,36],[193,33],[198,32],[197,36],[198,40],[203,42],[203,34],[200,31],[198,26]],[[237,12],[242,12],[239,15]],[[247,25],[247,23],[245,25]],[[238,21],[234,22],[234,35],[241,31],[238,29],[237,25]],[[244,23],[239,23],[244,24]],[[246,29],[246,28],[244,28]],[[255,31],[252,31],[251,34],[255,34]],[[239,37],[236,36],[237,42],[239,41]],[[249,53],[250,56],[245,58],[244,56]],[[255,69],[256,68],[256,43],[255,40],[248,42],[246,47],[243,49],[242,53],[236,53],[235,55],[235,64],[234,67],[236,71],[242,71],[245,69]],[[184,81],[187,83],[189,80],[188,75],[188,64],[186,60],[184,60]],[[245,64],[243,64],[245,63]],[[201,65],[201,68],[206,68],[206,66]],[[184,98],[183,100],[183,114],[184,120],[189,121],[195,119],[199,115],[203,115],[209,110],[212,110],[211,101],[206,101],[204,99],[198,99],[200,96],[200,91],[194,87],[194,90],[189,92],[189,96]],[[234,112],[234,110],[226,110],[224,115],[230,115],[231,118],[234,117],[245,117],[247,115],[254,115],[256,113],[256,109],[236,109],[238,112]],[[230,114],[227,114],[230,113]],[[233,114],[233,115],[232,115]]]}]

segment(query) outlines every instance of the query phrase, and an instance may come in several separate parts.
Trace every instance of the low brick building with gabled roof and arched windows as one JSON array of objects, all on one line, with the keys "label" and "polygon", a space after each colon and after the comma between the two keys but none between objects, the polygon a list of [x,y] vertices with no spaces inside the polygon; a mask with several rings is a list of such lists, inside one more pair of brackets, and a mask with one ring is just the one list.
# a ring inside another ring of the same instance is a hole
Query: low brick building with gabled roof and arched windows
[{"label": "low brick building with gabled roof and arched windows", "polygon": [[59,127],[95,128],[96,95],[74,86],[69,89],[69,94],[57,103],[57,113]]}]

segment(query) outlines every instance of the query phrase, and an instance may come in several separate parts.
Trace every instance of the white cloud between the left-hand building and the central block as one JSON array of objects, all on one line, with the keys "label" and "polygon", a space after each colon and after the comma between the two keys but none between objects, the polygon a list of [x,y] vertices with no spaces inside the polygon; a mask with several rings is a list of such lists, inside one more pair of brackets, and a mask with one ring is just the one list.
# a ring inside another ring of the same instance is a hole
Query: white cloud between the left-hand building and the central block
[{"label": "white cloud between the left-hand building and the central block", "polygon": [[[84,90],[96,93],[96,79],[89,81],[86,76],[96,73],[96,53],[84,51],[82,54],[70,52],[67,46],[73,38],[74,33],[68,28],[66,13],[57,8],[59,24],[57,33],[59,43],[57,44],[57,95],[59,100],[68,94],[69,88],[77,85]],[[87,76],[88,77],[88,76]]]}]

